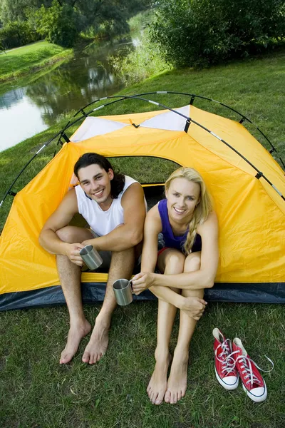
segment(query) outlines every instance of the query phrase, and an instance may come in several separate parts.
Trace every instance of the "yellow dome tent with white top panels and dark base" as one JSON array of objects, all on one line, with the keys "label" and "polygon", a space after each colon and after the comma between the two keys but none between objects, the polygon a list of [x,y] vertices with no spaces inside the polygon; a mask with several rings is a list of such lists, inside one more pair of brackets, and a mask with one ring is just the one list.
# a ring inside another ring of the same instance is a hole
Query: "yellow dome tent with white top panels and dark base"
[{"label": "yellow dome tent with white top panels and dark base", "polygon": [[[108,98],[161,106],[140,96]],[[41,248],[38,235],[74,184],[73,165],[90,151],[164,158],[197,169],[219,219],[219,267],[206,300],[285,302],[284,172],[242,123],[202,111],[193,105],[194,98],[175,110],[162,106],[160,111],[100,117],[88,115],[103,106],[83,110],[85,120],[70,139],[68,123],[59,133],[66,140],[61,150],[14,198],[0,238],[1,310],[64,302],[55,255]],[[145,186],[147,195],[161,193],[155,184]],[[103,300],[107,277],[83,272],[83,301]]]}]

